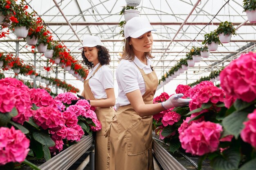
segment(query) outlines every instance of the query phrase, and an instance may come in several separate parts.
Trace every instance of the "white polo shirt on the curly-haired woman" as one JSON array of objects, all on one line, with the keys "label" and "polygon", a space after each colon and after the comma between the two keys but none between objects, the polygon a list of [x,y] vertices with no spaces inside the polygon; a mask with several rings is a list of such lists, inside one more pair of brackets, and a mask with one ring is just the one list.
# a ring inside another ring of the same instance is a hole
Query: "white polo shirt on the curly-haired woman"
[{"label": "white polo shirt on the curly-haired woman", "polygon": [[[85,80],[88,80],[95,70],[99,67],[100,63],[95,65],[88,73]],[[107,98],[105,89],[114,88],[113,73],[107,65],[102,65],[101,68],[90,78],[89,86],[92,90],[94,98]]]}]

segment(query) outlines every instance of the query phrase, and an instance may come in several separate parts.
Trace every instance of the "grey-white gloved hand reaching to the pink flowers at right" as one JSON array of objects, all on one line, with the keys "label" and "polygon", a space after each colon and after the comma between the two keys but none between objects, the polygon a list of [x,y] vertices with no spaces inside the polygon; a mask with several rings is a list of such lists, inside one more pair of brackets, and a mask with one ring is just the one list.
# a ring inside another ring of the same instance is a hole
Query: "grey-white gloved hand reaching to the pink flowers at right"
[{"label": "grey-white gloved hand reaching to the pink flowers at right", "polygon": [[172,107],[182,107],[189,105],[189,101],[191,101],[192,99],[181,98],[182,96],[182,93],[174,94],[173,96],[168,98],[168,100],[162,102],[162,107],[164,107],[164,109],[170,109]]}]

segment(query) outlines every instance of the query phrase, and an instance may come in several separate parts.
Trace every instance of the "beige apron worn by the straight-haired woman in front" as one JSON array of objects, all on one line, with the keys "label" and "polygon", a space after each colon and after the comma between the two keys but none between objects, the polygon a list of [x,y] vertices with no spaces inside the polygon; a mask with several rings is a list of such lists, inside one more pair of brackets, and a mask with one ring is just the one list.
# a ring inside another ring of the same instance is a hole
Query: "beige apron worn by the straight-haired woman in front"
[{"label": "beige apron worn by the straight-haired woman in front", "polygon": [[[144,103],[153,104],[158,85],[155,71],[149,74],[140,68],[139,71],[146,85]],[[152,116],[141,118],[131,105],[119,107],[105,133],[110,155],[107,170],[154,170],[152,121]]]}]

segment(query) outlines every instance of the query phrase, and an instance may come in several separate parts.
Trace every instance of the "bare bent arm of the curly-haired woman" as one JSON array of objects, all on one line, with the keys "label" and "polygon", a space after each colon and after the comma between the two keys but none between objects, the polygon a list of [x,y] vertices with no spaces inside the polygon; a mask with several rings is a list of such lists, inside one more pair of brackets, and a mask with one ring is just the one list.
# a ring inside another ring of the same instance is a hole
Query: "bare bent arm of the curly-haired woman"
[{"label": "bare bent arm of the curly-haired woman", "polygon": [[114,88],[105,89],[107,99],[104,100],[90,100],[90,105],[94,107],[111,107],[115,105],[115,92]]}]

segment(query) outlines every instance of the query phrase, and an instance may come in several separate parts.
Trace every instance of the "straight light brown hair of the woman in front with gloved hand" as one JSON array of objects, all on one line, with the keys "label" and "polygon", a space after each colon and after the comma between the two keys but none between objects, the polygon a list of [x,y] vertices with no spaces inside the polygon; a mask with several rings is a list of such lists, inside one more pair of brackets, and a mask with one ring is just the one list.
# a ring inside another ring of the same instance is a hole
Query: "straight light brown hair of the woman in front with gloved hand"
[{"label": "straight light brown hair of the woman in front with gloved hand", "polygon": [[[119,60],[121,59],[126,59],[130,61],[134,60],[135,54],[132,50],[132,45],[129,44],[129,41],[130,41],[130,37],[127,37],[125,41],[122,57],[119,58]],[[153,58],[154,57],[151,55],[151,52],[144,52],[144,59],[153,59]]]}]

